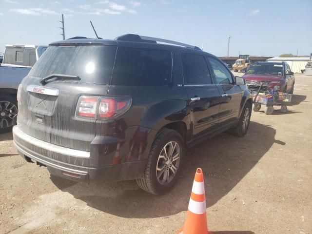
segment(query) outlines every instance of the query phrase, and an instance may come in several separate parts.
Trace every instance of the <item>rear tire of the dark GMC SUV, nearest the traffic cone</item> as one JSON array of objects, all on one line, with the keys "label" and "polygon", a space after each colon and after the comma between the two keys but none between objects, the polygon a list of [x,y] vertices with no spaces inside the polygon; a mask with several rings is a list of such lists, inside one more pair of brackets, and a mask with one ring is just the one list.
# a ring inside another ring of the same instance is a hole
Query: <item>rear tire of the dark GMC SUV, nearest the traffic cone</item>
[{"label": "rear tire of the dark GMC SUV, nearest the traffic cone", "polygon": [[[171,142],[173,143],[171,144]],[[177,145],[175,145],[174,142]],[[166,148],[166,151],[171,151],[174,145],[174,152],[171,152],[172,157],[170,156],[170,152],[168,152],[167,160],[165,158],[166,154],[164,153],[164,148]],[[178,155],[178,159],[176,156],[176,160],[174,160],[174,155]],[[148,161],[145,166],[145,172],[141,178],[137,179],[137,185],[142,190],[150,194],[160,195],[166,193],[176,184],[176,181],[179,177],[179,172],[181,170],[183,156],[184,142],[181,135],[172,129],[161,130],[161,132],[156,136],[156,139],[152,145]],[[168,164],[170,162],[171,164]],[[160,170],[163,167],[165,167],[164,171]],[[174,168],[176,168],[175,173]],[[165,177],[168,178],[167,181]]]}]

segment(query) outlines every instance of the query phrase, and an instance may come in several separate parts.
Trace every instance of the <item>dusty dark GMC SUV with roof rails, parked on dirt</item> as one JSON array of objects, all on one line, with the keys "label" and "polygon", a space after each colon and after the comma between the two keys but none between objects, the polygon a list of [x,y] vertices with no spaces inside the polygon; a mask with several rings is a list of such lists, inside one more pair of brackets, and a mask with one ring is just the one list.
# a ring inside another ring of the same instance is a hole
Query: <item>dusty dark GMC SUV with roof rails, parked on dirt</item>
[{"label": "dusty dark GMC SUV with roof rails, parked on dirt", "polygon": [[136,179],[152,194],[176,183],[186,147],[244,136],[252,113],[244,79],[220,59],[133,34],[50,44],[18,105],[14,144],[28,162],[76,181]]}]

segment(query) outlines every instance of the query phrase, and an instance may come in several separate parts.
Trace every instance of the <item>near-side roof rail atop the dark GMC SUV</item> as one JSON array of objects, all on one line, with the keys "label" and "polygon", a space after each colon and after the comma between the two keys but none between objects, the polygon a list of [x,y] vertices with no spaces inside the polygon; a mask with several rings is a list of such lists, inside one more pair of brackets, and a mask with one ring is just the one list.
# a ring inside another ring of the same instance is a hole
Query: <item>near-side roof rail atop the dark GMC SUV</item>
[{"label": "near-side roof rail atop the dark GMC SUV", "polygon": [[125,34],[125,35],[117,37],[116,40],[138,41],[138,42],[149,42],[149,43],[157,43],[157,41],[158,41],[158,42],[183,46],[183,47],[187,47],[187,48],[191,48],[191,49],[195,49],[195,50],[201,50],[200,48],[198,48],[197,46],[194,46],[194,45],[189,45],[189,44],[177,42],[174,40],[140,36],[137,34]]}]

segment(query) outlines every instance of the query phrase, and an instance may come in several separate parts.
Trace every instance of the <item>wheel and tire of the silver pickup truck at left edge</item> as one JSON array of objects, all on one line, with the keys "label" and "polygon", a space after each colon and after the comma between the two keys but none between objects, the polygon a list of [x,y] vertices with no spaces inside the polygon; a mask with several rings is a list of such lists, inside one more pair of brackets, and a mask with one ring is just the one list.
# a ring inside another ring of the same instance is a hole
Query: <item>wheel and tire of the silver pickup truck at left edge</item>
[{"label": "wheel and tire of the silver pickup truck at left edge", "polygon": [[13,116],[18,112],[18,101],[14,96],[0,95],[0,133],[12,130]]}]

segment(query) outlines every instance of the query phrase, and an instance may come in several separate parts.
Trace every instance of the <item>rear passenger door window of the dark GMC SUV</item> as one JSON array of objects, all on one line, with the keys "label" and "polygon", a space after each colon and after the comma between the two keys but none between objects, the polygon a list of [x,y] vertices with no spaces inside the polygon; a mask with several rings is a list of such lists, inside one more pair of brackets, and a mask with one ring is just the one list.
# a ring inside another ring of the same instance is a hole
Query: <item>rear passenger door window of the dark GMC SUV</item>
[{"label": "rear passenger door window of the dark GMC SUV", "polygon": [[182,61],[184,84],[212,84],[208,66],[203,56],[184,53]]}]

